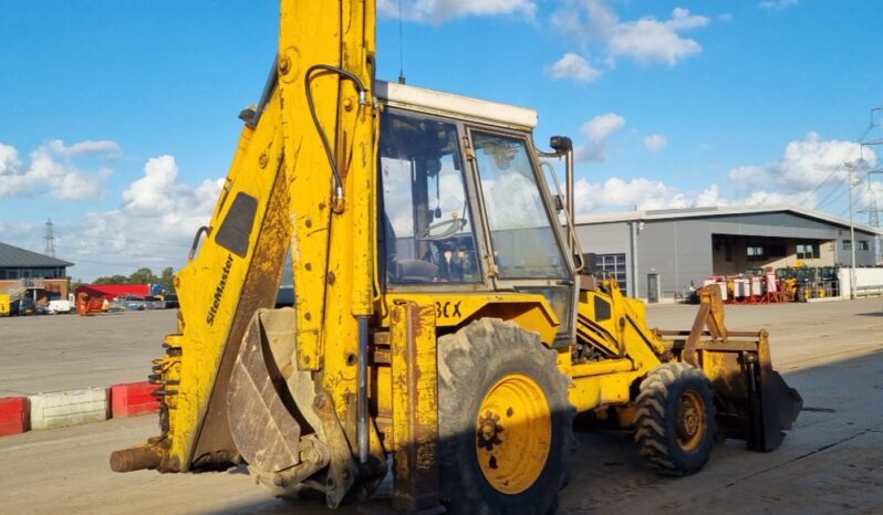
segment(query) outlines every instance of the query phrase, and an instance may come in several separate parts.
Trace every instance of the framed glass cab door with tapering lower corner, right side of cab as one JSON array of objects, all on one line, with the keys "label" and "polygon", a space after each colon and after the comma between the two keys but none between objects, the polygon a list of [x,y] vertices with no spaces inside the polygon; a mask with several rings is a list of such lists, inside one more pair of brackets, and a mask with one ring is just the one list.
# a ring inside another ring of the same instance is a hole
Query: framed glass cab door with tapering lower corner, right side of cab
[{"label": "framed glass cab door with tapering lower corner, right side of cab", "polygon": [[573,269],[530,139],[523,133],[468,128],[496,290],[538,293],[561,322],[557,343],[572,341]]}]

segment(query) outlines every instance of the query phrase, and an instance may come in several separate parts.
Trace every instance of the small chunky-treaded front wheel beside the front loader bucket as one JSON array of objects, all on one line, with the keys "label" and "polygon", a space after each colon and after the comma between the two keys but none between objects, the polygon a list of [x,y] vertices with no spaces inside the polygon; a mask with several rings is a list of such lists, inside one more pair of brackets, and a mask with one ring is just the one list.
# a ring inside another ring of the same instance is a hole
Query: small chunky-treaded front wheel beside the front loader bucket
[{"label": "small chunky-treaded front wheel beside the front loader bucket", "polygon": [[661,365],[641,382],[635,403],[635,441],[653,467],[685,475],[705,465],[715,437],[715,404],[702,370],[683,362]]}]

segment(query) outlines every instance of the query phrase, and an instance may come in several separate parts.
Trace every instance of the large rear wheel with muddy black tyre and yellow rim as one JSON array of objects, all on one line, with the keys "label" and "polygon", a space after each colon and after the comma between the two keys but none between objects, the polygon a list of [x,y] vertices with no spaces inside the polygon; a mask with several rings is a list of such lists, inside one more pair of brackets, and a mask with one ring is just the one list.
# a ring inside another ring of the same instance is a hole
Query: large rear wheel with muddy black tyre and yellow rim
[{"label": "large rear wheel with muddy black tyre and yellow rim", "polygon": [[485,318],[438,339],[439,467],[451,513],[554,512],[575,448],[558,353]]}]

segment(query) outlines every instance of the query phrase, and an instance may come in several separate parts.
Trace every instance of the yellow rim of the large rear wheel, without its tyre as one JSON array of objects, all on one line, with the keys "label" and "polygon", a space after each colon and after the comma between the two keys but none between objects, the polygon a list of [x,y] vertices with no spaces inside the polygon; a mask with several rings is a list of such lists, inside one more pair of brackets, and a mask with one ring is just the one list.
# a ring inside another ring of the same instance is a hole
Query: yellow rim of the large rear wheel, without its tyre
[{"label": "yellow rim of the large rear wheel, without its tyre", "polygon": [[488,483],[520,494],[540,477],[551,448],[552,416],[542,388],[523,375],[497,381],[476,419],[476,454]]}]

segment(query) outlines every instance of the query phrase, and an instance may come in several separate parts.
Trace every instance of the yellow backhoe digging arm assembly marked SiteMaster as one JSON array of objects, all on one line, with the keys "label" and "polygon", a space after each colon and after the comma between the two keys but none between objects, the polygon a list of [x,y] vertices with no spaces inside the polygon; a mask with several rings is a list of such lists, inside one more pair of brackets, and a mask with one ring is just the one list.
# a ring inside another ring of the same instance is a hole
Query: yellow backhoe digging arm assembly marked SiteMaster
[{"label": "yellow backhoe digging arm assembly marked SiteMaster", "polygon": [[[245,459],[291,477],[295,467],[314,472],[331,461],[329,483],[342,477],[328,497],[336,504],[355,481],[353,454],[383,461],[365,388],[375,297],[375,6],[283,0],[280,20],[262,102],[243,112],[224,192],[176,277],[178,333],[166,338],[167,356],[152,376],[160,385],[163,433],[115,452],[112,466],[186,472]],[[281,324],[259,311],[273,307],[289,251],[298,287],[293,319]],[[268,356],[280,326],[293,332],[294,362]],[[283,420],[273,391],[277,368],[289,366],[311,382],[307,395],[315,401],[297,407],[305,411],[303,428]],[[231,375],[252,387],[228,388]],[[254,424],[243,422],[252,419],[276,428],[276,438],[261,438],[284,442],[288,463],[261,460]],[[308,431],[322,434],[324,446],[304,440]]]}]

